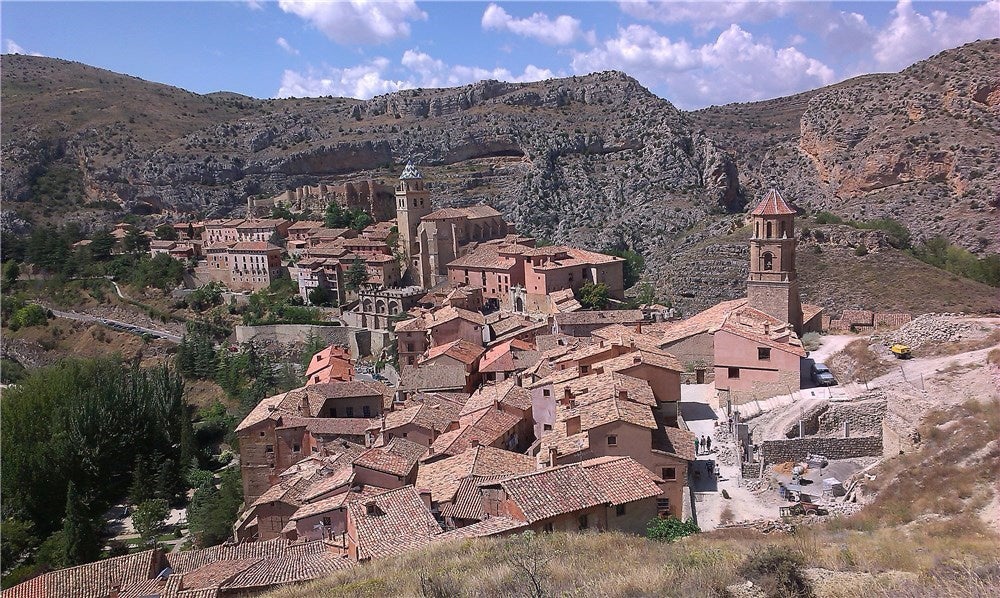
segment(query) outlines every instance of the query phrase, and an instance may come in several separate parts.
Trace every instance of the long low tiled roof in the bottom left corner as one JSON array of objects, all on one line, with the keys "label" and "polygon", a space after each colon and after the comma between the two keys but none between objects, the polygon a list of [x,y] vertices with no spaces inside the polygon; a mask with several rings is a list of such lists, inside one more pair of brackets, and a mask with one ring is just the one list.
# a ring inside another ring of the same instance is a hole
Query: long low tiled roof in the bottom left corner
[{"label": "long low tiled roof in the bottom left corner", "polygon": [[44,573],[3,591],[3,598],[105,598],[115,587],[134,586],[159,573],[162,553],[146,550]]}]

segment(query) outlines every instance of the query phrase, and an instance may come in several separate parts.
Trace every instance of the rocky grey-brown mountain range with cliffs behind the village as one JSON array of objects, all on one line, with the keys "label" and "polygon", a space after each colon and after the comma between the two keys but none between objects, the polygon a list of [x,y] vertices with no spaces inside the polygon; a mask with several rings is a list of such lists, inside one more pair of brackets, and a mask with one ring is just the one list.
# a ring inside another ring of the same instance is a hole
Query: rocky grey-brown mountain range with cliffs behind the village
[{"label": "rocky grey-brown mountain range with cliffs behind the village", "polygon": [[3,224],[239,214],[248,196],[391,179],[413,160],[440,205],[485,202],[535,235],[641,251],[698,309],[742,293],[732,235],[770,186],[807,212],[1000,249],[998,58],[1000,40],[976,42],[901,73],[683,112],[618,72],[259,100],[5,55]]}]

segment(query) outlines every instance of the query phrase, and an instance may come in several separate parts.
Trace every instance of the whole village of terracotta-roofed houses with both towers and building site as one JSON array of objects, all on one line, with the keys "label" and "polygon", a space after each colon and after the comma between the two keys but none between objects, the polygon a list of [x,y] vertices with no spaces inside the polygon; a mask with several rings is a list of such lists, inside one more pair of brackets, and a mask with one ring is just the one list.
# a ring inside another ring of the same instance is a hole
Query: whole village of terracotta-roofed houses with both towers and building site
[{"label": "whole village of terracotta-roofed houses with both towers and building site", "polygon": [[[857,333],[919,319],[833,319],[803,302],[796,211],[778,190],[747,214],[746,296],[686,318],[625,308],[620,257],[539,244],[493,208],[432,200],[408,164],[394,187],[289,190],[248,201],[246,218],[177,222],[176,240],[152,240],[152,254],[190,266],[190,287],[236,297],[287,276],[302,304],[335,308],[337,325],[241,327],[241,340],[317,334],[329,346],[304,384],[236,427],[244,504],[230,542],[53,571],[4,598],[95,576],[114,596],[242,595],[527,530],[642,535],[671,518],[767,531],[856,511],[867,469],[919,443],[886,392],[906,394],[895,387],[913,386],[915,362],[910,379],[901,365],[902,382],[881,384],[838,384],[823,366]],[[372,222],[266,214],[329,202]],[[584,305],[595,288],[602,301]]]}]

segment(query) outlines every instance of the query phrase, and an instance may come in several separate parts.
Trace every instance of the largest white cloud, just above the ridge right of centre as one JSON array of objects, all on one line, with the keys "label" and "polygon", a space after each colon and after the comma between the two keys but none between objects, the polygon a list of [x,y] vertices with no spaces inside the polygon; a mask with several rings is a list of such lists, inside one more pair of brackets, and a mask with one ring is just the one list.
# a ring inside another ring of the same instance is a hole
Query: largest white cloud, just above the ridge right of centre
[{"label": "largest white cloud, just above the ridge right of centre", "polygon": [[828,85],[833,70],[793,48],[775,48],[730,25],[700,47],[672,41],[644,25],[618,30],[589,52],[576,53],[577,73],[623,70],[649,86],[665,90],[681,107],[757,100]]}]

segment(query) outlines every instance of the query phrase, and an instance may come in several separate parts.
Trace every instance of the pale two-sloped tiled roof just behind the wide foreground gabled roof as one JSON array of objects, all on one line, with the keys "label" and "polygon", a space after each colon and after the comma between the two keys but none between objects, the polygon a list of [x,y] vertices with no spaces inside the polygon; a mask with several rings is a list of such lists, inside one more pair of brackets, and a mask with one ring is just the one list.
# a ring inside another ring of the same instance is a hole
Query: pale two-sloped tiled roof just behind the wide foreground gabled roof
[{"label": "pale two-sloped tiled roof just behind the wide foreground gabled roof", "polygon": [[416,487],[430,490],[432,500],[445,503],[455,498],[455,492],[467,476],[509,475],[534,469],[532,457],[479,445],[447,459],[424,463],[417,470]]}]

